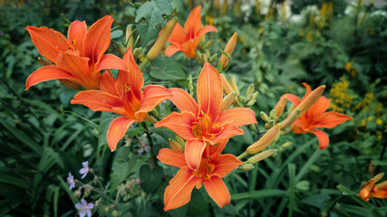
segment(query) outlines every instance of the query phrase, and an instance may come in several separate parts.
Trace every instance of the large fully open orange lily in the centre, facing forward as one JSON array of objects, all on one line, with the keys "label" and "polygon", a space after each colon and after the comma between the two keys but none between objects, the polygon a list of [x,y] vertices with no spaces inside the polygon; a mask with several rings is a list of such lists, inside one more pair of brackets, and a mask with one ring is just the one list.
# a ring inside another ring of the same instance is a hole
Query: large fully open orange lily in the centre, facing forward
[{"label": "large fully open orange lily in the centre, facing forward", "polygon": [[243,135],[239,127],[256,124],[252,109],[221,110],[223,88],[218,71],[206,63],[198,76],[198,103],[188,92],[176,88],[170,98],[181,111],[172,112],[155,127],[168,127],[187,141],[185,158],[190,169],[197,169],[207,145],[217,145],[230,137]]}]

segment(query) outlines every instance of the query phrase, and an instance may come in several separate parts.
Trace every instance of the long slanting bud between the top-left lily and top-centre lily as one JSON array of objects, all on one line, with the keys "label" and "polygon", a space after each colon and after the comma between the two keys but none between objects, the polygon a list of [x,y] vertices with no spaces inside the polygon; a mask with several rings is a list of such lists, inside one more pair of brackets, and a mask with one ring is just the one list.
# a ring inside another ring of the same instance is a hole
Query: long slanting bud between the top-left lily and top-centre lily
[{"label": "long slanting bud between the top-left lily and top-centre lily", "polygon": [[168,24],[165,26],[165,28],[161,31],[159,37],[157,38],[156,42],[153,44],[153,46],[150,48],[150,52],[147,53],[146,58],[149,61],[153,61],[157,55],[161,52],[162,47],[164,47],[164,44],[169,39],[170,34],[173,32],[173,29],[175,28],[175,25],[178,24],[178,17],[174,17],[171,19]]}]

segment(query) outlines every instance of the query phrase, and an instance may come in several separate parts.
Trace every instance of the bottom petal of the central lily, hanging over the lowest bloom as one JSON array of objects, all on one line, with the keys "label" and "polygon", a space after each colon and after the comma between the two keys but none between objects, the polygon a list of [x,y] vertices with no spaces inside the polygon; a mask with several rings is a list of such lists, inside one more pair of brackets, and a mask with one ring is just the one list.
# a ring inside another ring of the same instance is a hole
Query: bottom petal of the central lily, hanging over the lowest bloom
[{"label": "bottom petal of the central lily, hanging over the lowest bloom", "polygon": [[196,170],[200,165],[201,156],[206,148],[206,143],[202,141],[187,141],[186,149],[184,151],[187,165],[192,170]]}]

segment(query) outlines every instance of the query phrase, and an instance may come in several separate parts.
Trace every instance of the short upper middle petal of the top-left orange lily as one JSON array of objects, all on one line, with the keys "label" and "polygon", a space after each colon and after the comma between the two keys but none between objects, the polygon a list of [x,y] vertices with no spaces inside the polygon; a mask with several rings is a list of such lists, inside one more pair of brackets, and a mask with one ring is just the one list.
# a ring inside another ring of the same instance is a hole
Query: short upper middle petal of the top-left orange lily
[{"label": "short upper middle petal of the top-left orange lily", "polygon": [[75,44],[76,50],[82,53],[84,37],[87,33],[87,25],[84,21],[74,21],[67,32],[67,40],[70,44]]}]

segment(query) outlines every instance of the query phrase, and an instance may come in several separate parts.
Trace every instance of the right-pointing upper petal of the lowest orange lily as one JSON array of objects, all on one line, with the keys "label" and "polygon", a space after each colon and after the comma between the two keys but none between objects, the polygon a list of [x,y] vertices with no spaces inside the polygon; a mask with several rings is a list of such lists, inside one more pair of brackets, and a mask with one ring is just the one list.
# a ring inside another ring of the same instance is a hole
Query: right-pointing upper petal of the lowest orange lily
[{"label": "right-pointing upper petal of the lowest orange lily", "polygon": [[213,174],[218,175],[219,177],[224,177],[237,168],[238,165],[243,165],[243,162],[238,160],[236,156],[226,154],[219,155],[218,157],[213,157],[214,160],[211,161],[215,165]]}]

